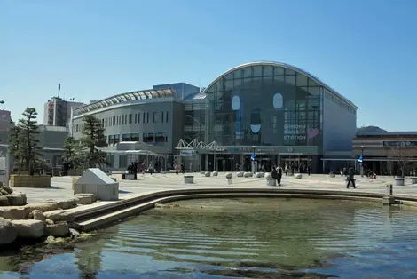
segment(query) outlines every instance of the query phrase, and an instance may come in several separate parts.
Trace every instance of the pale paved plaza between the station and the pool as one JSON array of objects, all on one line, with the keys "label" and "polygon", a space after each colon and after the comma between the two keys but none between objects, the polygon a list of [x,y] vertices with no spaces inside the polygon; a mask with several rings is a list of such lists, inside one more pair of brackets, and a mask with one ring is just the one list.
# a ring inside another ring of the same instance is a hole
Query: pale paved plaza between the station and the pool
[{"label": "pale paved plaza between the station and the pool", "polygon": [[[187,188],[271,188],[266,185],[264,178],[237,178],[233,173],[232,184],[229,185],[224,177],[225,172],[219,172],[217,177],[205,177],[200,172],[187,173],[194,175],[194,184],[185,184],[183,175],[175,173],[153,175],[138,175],[138,180],[122,180],[121,175],[113,175],[119,181],[120,197],[127,198],[132,195],[143,195],[154,191],[187,189]],[[386,193],[386,185],[393,184],[393,177],[378,177],[377,179],[355,177],[357,189],[346,189],[345,178],[336,176],[330,178],[324,174],[312,174],[308,176],[303,174],[303,179],[295,179],[294,176],[283,176],[282,188],[288,189],[315,189],[315,190],[342,190],[350,192],[366,192],[366,193]],[[51,179],[50,188],[15,188],[16,191],[26,193],[28,203],[41,202],[46,200],[58,200],[71,197],[72,177],[54,177]],[[275,187],[281,188],[281,187]],[[395,195],[414,195],[417,196],[417,184],[412,185],[410,179],[405,179],[405,186],[394,187]]]}]

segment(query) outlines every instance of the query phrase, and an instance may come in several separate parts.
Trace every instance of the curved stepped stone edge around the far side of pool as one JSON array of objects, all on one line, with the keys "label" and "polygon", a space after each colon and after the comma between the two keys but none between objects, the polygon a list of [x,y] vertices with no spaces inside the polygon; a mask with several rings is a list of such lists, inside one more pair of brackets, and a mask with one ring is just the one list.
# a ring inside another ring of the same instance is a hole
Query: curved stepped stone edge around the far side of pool
[{"label": "curved stepped stone edge around the far side of pool", "polygon": [[[355,192],[355,190],[318,190],[285,188],[187,188],[154,191],[145,195],[133,195],[113,203],[98,204],[90,208],[75,208],[78,229],[88,232],[111,225],[115,221],[152,209],[155,203],[180,200],[231,197],[309,198],[382,203],[385,195]],[[417,206],[417,196],[393,195],[397,204]]]}]

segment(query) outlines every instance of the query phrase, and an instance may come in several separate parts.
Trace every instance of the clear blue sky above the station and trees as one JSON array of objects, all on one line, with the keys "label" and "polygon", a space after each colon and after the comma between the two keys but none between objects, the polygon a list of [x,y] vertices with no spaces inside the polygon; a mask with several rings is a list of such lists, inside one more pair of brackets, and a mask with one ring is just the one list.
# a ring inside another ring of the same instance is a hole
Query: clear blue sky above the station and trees
[{"label": "clear blue sky above the station and trees", "polygon": [[59,83],[88,101],[275,60],[352,100],[358,126],[417,130],[416,11],[415,0],[0,0],[0,98],[13,119],[30,106],[42,122]]}]

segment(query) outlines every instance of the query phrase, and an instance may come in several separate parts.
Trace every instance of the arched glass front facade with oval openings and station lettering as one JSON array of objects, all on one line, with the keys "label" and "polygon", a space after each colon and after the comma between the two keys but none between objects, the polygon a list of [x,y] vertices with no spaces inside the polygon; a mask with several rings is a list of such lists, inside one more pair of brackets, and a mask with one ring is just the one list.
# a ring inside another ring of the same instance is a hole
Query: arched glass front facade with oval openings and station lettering
[{"label": "arched glass front facade with oval openings and station lettering", "polygon": [[292,69],[237,68],[207,89],[205,142],[322,147],[322,87]]}]

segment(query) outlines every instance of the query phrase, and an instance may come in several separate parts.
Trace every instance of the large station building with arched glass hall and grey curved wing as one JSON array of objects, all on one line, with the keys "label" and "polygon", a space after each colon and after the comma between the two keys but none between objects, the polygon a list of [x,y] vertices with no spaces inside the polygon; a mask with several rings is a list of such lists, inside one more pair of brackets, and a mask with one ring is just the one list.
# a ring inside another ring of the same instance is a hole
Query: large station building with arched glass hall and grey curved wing
[{"label": "large station building with arched glass hall and grey curved wing", "polygon": [[[254,62],[229,69],[203,92],[162,84],[75,108],[73,135],[81,137],[83,115],[93,114],[110,145],[138,141],[161,155],[182,151],[204,170],[247,169],[255,153],[265,169],[289,163],[317,172],[326,171],[327,158],[351,157],[357,109],[300,68]],[[130,160],[122,155],[114,168]]]}]

